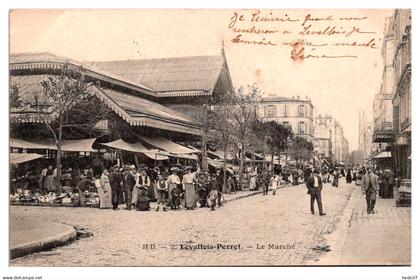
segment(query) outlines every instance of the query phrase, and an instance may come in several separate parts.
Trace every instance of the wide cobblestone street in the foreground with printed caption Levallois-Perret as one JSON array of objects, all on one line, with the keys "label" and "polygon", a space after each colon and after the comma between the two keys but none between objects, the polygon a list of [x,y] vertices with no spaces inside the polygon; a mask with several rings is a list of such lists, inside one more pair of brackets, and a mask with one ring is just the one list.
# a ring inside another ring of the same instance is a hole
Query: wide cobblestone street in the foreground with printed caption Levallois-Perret
[{"label": "wide cobblestone street in the foreground with printed caption Levallois-Perret", "polygon": [[[256,195],[208,208],[179,212],[12,206],[11,216],[81,225],[94,236],[15,259],[12,266],[303,265],[316,261],[334,230],[352,186],[323,190],[327,216],[311,215],[303,185],[276,196]],[[13,234],[13,233],[11,233]],[[144,249],[155,244],[156,249]],[[182,250],[180,245],[235,245],[240,249]],[[264,249],[258,249],[265,246]],[[268,244],[281,245],[268,249]]]}]

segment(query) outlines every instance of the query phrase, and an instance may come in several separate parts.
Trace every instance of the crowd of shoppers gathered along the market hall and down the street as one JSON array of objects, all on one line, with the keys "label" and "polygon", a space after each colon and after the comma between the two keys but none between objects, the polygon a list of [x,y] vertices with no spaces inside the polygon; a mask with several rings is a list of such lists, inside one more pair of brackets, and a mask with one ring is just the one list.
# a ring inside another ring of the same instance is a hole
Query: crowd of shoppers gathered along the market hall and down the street
[{"label": "crowd of shoppers gathered along the market hall and down the street", "polygon": [[[91,162],[83,169],[67,169],[62,175],[64,182],[58,182],[57,168],[48,164],[37,168],[38,176],[28,176],[28,182],[35,189],[33,192],[42,194],[58,195],[67,186],[71,192],[78,194],[80,206],[85,206],[86,194],[93,191],[99,196],[99,208],[102,209],[119,210],[123,204],[127,210],[147,211],[150,210],[150,202],[156,201],[156,211],[192,210],[197,207],[209,207],[214,211],[216,206],[222,206],[223,193],[244,188],[262,190],[262,194],[267,195],[271,189],[275,195],[279,187],[302,183],[308,186],[308,181],[313,180],[316,183],[317,179],[313,179],[315,170],[323,184],[331,183],[334,187],[338,187],[340,177],[345,178],[346,183],[355,181],[356,185],[361,185],[367,172],[365,167],[323,166],[314,169],[309,165],[293,165],[268,169],[250,164],[244,169],[242,180],[237,171],[229,169],[224,188],[223,171],[217,168],[200,170],[179,164],[150,168],[145,164],[120,166],[99,161]],[[391,198],[394,185],[392,172],[385,169],[375,173],[378,175],[379,196]],[[311,200],[318,198],[315,195]]]}]

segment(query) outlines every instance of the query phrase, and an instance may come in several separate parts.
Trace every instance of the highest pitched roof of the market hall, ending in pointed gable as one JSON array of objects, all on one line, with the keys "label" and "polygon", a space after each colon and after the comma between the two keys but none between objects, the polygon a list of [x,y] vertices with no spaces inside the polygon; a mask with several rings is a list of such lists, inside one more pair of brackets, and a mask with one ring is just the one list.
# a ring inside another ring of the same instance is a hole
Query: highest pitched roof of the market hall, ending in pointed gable
[{"label": "highest pitched roof of the market hall, ending in pointed gable", "polygon": [[104,61],[91,65],[142,83],[158,92],[158,96],[159,93],[170,96],[171,92],[211,94],[224,63],[220,55]]}]

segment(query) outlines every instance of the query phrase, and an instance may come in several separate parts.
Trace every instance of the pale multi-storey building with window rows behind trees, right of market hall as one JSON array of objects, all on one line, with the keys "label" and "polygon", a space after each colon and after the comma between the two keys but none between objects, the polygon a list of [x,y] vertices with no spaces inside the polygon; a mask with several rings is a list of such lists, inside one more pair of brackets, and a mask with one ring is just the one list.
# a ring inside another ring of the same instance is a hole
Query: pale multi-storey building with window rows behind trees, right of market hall
[{"label": "pale multi-storey building with window rows behind trees, right of market hall", "polygon": [[313,111],[311,100],[307,97],[300,99],[299,96],[296,98],[268,96],[257,106],[257,113],[262,121],[275,121],[288,125],[295,135],[310,141],[314,138]]}]

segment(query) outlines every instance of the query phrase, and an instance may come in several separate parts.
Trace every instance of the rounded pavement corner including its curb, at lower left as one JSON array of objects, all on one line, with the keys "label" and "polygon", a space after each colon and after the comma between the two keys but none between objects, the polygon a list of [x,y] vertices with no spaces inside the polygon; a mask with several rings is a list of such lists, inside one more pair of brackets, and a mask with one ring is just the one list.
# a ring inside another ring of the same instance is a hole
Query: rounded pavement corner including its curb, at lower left
[{"label": "rounded pavement corner including its curb, at lower left", "polygon": [[72,226],[10,218],[10,259],[67,244],[76,238]]}]

